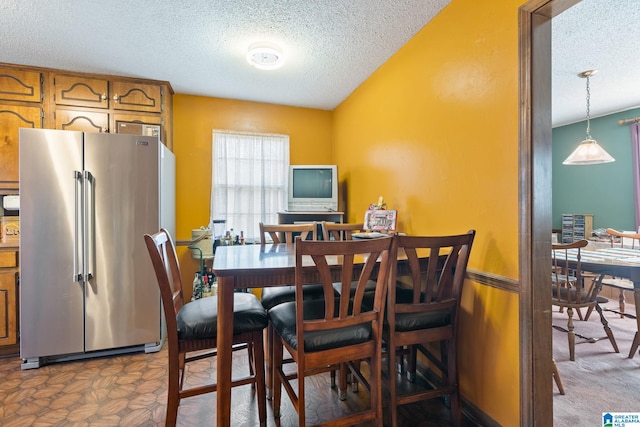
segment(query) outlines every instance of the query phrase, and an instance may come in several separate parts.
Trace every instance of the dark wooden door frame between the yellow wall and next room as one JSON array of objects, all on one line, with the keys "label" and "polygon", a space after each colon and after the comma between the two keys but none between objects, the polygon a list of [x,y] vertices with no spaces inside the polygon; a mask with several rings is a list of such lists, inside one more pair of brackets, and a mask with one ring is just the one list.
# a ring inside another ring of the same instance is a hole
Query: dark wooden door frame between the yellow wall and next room
[{"label": "dark wooden door frame between the yellow wall and next room", "polygon": [[553,425],[551,343],[551,20],[580,0],[519,11],[518,252],[520,425]]}]

